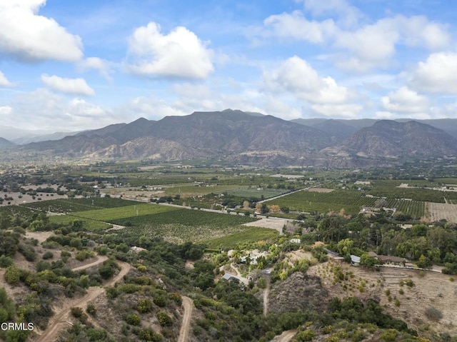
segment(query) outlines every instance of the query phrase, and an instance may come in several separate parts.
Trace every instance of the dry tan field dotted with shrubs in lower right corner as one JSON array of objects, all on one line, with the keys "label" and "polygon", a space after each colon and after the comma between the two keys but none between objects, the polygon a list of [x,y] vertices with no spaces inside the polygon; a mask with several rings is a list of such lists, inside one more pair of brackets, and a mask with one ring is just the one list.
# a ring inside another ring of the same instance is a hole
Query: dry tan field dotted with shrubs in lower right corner
[{"label": "dry tan field dotted with shrubs in lower right corner", "polygon": [[[387,313],[406,321],[410,328],[416,329],[421,335],[426,334],[427,329],[438,333],[448,331],[451,335],[457,333],[457,281],[452,281],[451,276],[407,268],[383,267],[381,271],[376,272],[343,263],[341,265],[343,272],[353,274],[346,281],[345,290],[343,283],[333,281],[331,268],[336,265],[338,264],[328,261],[308,270],[308,273],[322,279],[323,286],[328,290],[330,297],[357,296],[376,299]],[[414,285],[400,286],[400,282],[405,279],[411,279]],[[363,283],[365,285],[360,291],[359,287]],[[388,300],[387,289],[391,292],[391,301]],[[404,293],[401,294],[400,290]],[[396,306],[396,299],[400,301],[399,306]],[[425,311],[431,307],[443,313],[440,321],[430,321],[426,317]]]}]

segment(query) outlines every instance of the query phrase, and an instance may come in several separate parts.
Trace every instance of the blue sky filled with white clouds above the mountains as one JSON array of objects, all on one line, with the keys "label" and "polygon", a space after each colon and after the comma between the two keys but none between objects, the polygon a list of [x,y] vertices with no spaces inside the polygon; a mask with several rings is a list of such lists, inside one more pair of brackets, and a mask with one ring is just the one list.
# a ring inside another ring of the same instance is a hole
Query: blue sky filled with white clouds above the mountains
[{"label": "blue sky filled with white clouds above the mountains", "polygon": [[0,125],[457,118],[457,1],[0,0]]}]

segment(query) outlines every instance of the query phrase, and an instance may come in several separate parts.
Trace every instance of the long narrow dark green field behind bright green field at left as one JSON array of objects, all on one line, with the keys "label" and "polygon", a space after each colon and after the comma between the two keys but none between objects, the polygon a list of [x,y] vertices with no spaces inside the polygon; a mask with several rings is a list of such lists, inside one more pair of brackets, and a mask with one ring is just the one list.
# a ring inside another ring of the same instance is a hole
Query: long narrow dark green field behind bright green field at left
[{"label": "long narrow dark green field behind bright green field at left", "polygon": [[21,204],[27,208],[39,211],[51,211],[54,213],[71,213],[75,211],[87,211],[91,209],[119,208],[130,206],[131,201],[121,198],[91,197],[91,198],[69,198],[54,199],[45,202],[34,202]]}]

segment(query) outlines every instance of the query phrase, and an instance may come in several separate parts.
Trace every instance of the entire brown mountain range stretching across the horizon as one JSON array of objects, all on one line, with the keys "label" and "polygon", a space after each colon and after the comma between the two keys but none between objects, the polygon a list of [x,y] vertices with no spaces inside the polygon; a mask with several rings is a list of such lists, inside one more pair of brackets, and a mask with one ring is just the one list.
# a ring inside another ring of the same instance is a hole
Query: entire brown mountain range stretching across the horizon
[{"label": "entire brown mountain range stretching across the horizon", "polygon": [[[138,119],[16,146],[18,152],[86,159],[182,160],[208,157],[234,164],[372,166],[399,159],[457,156],[457,121],[286,121],[226,109]],[[445,126],[446,131],[437,126]],[[1,144],[1,142],[0,142]],[[382,160],[382,161],[381,161]]]}]

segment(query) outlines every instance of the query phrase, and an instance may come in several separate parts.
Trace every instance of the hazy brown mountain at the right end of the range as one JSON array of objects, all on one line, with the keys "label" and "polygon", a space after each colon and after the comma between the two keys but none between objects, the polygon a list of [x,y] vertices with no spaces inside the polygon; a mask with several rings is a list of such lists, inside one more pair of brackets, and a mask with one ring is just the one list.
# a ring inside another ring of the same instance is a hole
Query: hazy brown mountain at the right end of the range
[{"label": "hazy brown mountain at the right end of the range", "polygon": [[457,139],[417,121],[381,120],[357,131],[340,149],[372,158],[457,156]]}]

